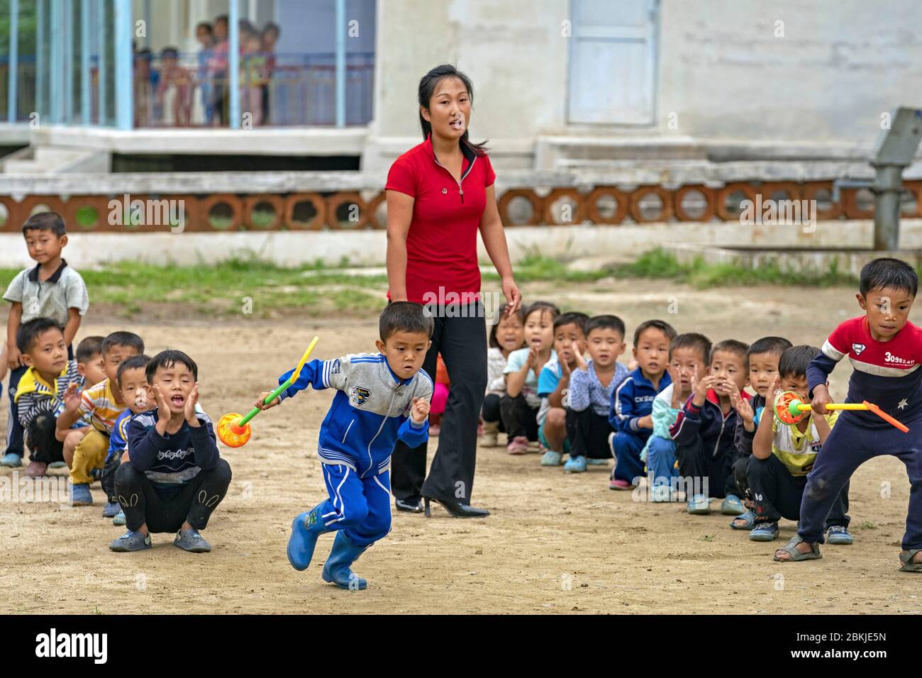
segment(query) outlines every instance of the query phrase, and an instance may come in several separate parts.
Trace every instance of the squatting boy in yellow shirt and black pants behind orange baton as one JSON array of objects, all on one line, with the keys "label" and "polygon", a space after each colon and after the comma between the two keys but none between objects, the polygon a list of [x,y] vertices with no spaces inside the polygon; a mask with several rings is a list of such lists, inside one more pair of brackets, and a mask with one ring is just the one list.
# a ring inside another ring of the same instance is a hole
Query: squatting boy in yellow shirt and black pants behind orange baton
[{"label": "squatting boy in yellow shirt and black pants behind orange baton", "polygon": [[[780,388],[794,391],[803,402],[809,400],[807,367],[819,352],[812,346],[795,346],[785,351],[768,392],[774,394]],[[745,407],[741,406],[739,411]],[[807,474],[832,433],[838,416],[839,412],[825,416],[807,412],[800,422],[788,426],[779,422],[771,409],[762,414],[747,470],[756,514],[755,527],[750,532],[752,541],[773,541],[778,536],[778,520],[782,517],[799,519]],[[830,543],[852,543],[845,515],[847,510],[846,482],[826,518]]]}]

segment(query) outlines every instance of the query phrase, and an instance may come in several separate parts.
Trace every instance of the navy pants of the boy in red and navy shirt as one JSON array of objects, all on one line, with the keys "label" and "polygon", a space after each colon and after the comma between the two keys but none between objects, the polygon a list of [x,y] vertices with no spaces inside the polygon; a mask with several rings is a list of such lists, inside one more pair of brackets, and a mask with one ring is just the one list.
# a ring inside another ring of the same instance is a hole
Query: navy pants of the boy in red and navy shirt
[{"label": "navy pants of the boy in red and navy shirt", "polygon": [[906,465],[909,475],[909,511],[903,549],[922,549],[922,418],[904,422],[908,434],[888,426],[870,429],[843,412],[826,438],[800,503],[800,529],[804,541],[823,542],[823,528],[833,504],[855,470],[870,458],[892,455]]}]

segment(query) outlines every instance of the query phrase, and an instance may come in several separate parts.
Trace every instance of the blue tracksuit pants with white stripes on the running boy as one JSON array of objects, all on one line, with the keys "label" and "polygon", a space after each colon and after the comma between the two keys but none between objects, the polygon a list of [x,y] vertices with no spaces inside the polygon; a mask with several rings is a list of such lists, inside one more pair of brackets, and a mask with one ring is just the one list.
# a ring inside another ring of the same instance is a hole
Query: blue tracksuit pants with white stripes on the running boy
[{"label": "blue tracksuit pants with white stripes on the running boy", "polygon": [[348,466],[323,464],[329,498],[322,516],[327,529],[341,529],[356,546],[371,546],[391,531],[391,472],[361,478]]}]

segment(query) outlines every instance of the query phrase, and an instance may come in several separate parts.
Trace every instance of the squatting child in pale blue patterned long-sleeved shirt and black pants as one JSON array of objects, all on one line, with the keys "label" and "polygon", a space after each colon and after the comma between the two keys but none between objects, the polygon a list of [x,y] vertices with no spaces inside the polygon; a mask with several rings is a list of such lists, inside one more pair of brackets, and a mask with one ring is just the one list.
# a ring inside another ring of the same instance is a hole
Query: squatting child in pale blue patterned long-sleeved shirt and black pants
[{"label": "squatting child in pale blue patterned long-sleeved shirt and black pants", "polygon": [[624,321],[617,315],[596,315],[585,323],[589,362],[583,360],[579,346],[573,347],[576,369],[570,375],[566,406],[567,439],[570,459],[565,473],[582,473],[587,464],[608,464],[609,408],[615,388],[628,376],[628,368],[618,359],[624,354]]}]

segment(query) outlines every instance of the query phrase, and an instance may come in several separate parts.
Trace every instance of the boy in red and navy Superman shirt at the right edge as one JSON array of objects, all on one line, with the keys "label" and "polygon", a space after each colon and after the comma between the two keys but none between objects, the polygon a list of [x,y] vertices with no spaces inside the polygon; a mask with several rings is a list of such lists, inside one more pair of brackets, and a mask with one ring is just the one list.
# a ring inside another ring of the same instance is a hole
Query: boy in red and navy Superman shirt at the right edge
[{"label": "boy in red and navy Superman shirt at the right edge", "polygon": [[904,261],[870,261],[861,269],[857,295],[866,315],[836,327],[807,368],[815,414],[826,414],[832,402],[827,377],[848,356],[855,372],[845,402],[867,400],[903,422],[909,433],[873,412],[843,411],[807,479],[798,535],[775,552],[775,560],[821,558],[825,520],[845,482],[869,458],[893,455],[906,465],[912,485],[900,569],[922,572],[922,328],[909,322],[917,291],[916,271]]}]

